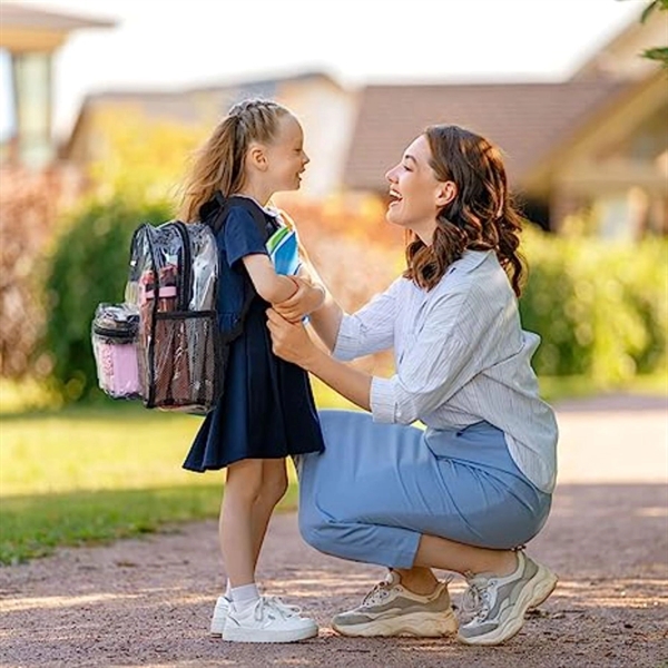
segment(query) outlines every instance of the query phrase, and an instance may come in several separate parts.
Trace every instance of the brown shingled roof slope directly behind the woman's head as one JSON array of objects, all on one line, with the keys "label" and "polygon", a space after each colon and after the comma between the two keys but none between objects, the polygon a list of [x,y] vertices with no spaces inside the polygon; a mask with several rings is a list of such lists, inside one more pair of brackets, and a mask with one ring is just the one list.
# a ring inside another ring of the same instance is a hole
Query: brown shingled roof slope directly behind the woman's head
[{"label": "brown shingled roof slope directly behind the woman's head", "polygon": [[385,170],[429,125],[460,125],[498,145],[511,184],[566,140],[623,85],[484,84],[369,86],[361,92],[345,186],[384,190]]}]

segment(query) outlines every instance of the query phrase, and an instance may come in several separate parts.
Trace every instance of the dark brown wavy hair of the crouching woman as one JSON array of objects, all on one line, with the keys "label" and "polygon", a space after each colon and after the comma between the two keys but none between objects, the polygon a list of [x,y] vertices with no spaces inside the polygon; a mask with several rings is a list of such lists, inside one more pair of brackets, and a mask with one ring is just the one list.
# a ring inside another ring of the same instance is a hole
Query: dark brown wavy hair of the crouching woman
[{"label": "dark brown wavy hair of the crouching woman", "polygon": [[458,126],[430,126],[424,136],[436,179],[453,181],[456,196],[439,213],[430,246],[410,233],[404,277],[429,291],[464,250],[494,250],[519,296],[524,273],[518,253],[522,217],[508,191],[500,150]]}]

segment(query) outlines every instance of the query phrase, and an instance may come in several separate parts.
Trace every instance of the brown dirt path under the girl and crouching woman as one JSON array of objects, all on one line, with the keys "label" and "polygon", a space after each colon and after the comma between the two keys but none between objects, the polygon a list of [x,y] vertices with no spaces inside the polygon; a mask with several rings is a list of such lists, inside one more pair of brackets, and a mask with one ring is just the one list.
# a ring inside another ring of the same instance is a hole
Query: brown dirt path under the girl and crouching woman
[{"label": "brown dirt path under the girl and crouching woman", "polygon": [[[530,553],[560,584],[505,646],[334,635],[331,616],[383,571],[308,548],[291,513],[273,519],[259,572],[272,593],[315,616],[318,638],[276,646],[208,638],[222,580],[212,521],[0,569],[0,666],[666,668],[665,402],[580,402],[561,406],[559,422],[560,482]],[[451,586],[455,601],[462,589],[459,579]]]}]

